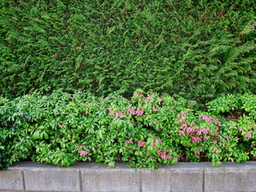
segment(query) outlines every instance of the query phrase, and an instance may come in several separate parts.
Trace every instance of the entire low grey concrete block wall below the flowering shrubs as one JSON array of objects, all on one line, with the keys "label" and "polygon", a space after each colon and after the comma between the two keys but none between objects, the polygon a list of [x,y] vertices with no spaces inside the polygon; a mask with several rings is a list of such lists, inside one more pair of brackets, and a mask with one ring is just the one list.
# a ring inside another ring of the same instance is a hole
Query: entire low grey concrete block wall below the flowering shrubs
[{"label": "entire low grey concrete block wall below the flowering shrubs", "polygon": [[125,163],[115,167],[78,162],[58,167],[36,162],[18,162],[0,171],[0,191],[87,191],[87,192],[256,192],[256,162],[180,162],[158,170],[134,170]]}]

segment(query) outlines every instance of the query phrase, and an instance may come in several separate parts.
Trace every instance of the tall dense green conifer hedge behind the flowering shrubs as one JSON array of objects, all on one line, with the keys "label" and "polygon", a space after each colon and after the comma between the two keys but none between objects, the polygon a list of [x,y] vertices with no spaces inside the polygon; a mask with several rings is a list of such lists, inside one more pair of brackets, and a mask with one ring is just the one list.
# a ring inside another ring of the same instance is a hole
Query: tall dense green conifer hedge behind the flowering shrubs
[{"label": "tall dense green conifer hedge behind the flowering shrubs", "polygon": [[2,1],[0,94],[255,93],[255,10],[250,0]]}]

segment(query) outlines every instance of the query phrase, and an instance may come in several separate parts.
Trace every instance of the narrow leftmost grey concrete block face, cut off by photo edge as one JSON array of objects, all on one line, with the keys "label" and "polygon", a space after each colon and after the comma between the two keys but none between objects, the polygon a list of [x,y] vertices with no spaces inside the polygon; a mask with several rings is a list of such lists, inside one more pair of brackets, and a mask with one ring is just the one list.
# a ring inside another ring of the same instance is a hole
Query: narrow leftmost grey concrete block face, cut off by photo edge
[{"label": "narrow leftmost grey concrete block face, cut off by photo edge", "polygon": [[22,171],[0,171],[0,190],[24,190]]}]

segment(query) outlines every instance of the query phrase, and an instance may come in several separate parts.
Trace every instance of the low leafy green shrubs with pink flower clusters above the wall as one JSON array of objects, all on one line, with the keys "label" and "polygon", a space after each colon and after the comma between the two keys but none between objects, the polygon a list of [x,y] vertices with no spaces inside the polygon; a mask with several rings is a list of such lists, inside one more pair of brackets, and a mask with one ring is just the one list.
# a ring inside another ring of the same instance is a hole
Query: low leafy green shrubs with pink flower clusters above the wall
[{"label": "low leafy green shrubs with pink flower clusters above the wall", "polygon": [[[255,116],[226,121],[215,105],[229,98],[210,102],[208,112],[194,110],[184,98],[142,90],[130,99],[62,90],[0,98],[0,169],[22,159],[58,166],[120,161],[150,169],[179,161],[246,162],[256,157]],[[247,98],[255,95],[239,95],[242,106],[253,111]]]}]

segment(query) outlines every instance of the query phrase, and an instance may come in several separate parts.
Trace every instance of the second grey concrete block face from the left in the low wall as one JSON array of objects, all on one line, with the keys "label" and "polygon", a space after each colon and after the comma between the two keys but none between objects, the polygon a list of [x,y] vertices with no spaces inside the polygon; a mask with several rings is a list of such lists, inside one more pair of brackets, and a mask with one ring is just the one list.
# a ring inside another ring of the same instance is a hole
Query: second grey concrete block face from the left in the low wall
[{"label": "second grey concrete block face from the left in the low wall", "polygon": [[26,190],[80,191],[78,171],[24,171]]}]

